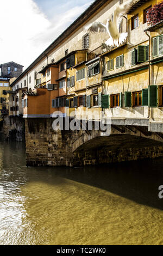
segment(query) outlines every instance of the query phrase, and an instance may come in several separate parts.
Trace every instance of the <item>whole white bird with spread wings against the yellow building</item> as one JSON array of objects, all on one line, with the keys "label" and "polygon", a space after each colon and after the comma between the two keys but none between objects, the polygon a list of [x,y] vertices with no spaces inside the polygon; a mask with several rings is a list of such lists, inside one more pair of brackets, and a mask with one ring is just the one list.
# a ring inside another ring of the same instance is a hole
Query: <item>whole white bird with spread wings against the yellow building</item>
[{"label": "whole white bird with spread wings against the yellow building", "polygon": [[105,32],[109,34],[109,39],[105,42],[108,46],[119,46],[127,39],[128,33],[120,33],[119,27],[122,22],[123,15],[127,14],[131,6],[135,3],[135,0],[128,0],[121,5],[118,5],[109,19],[107,19],[106,24],[102,22],[93,22],[91,25],[86,27],[87,32],[95,34]]}]

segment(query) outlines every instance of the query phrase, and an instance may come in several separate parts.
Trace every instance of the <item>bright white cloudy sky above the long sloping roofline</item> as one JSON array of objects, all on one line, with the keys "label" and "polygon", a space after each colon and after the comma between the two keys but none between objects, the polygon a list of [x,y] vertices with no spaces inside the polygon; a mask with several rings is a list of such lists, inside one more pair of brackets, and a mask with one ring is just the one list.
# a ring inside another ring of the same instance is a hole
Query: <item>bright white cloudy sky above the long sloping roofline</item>
[{"label": "bright white cloudy sky above the long sloping roofline", "polygon": [[0,64],[26,69],[92,2],[0,0]]}]

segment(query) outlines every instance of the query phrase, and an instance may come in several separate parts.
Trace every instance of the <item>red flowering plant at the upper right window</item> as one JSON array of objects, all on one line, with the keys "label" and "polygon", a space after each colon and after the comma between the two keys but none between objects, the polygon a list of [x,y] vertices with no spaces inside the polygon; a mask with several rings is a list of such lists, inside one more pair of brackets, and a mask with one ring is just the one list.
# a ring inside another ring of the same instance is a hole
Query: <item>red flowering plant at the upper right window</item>
[{"label": "red flowering plant at the upper right window", "polygon": [[152,26],[156,23],[163,21],[163,1],[159,4],[153,5],[147,12],[147,23]]}]

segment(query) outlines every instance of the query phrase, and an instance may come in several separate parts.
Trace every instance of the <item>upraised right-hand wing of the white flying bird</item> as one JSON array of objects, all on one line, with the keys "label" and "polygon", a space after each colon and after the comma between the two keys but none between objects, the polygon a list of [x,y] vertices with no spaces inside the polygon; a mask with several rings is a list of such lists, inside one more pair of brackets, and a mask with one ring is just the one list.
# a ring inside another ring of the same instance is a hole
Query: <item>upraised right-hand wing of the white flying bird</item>
[{"label": "upraised right-hand wing of the white flying bird", "polygon": [[131,6],[136,2],[136,0],[128,0],[121,5],[118,5],[113,14],[113,22],[119,27],[122,21],[122,15],[127,14]]}]

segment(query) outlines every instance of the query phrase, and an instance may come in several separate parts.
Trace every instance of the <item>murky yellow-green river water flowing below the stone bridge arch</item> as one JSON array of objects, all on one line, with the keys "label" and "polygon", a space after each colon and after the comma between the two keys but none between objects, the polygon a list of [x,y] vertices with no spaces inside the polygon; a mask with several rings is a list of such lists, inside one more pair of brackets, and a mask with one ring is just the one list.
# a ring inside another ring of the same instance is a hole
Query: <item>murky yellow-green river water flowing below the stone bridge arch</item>
[{"label": "murky yellow-green river water flowing below the stone bridge arch", "polygon": [[163,245],[163,159],[27,168],[0,142],[0,245]]}]

